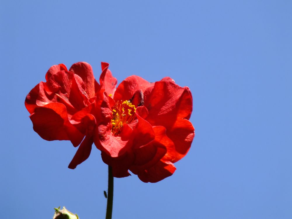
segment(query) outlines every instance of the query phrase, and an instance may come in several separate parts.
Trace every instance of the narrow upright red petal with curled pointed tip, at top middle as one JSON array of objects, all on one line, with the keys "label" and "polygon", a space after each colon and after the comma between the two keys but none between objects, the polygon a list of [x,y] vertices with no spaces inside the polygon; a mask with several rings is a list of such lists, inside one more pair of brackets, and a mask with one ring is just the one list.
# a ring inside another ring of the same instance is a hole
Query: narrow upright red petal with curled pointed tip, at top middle
[{"label": "narrow upright red petal with curled pointed tip, at top middle", "polygon": [[112,72],[108,69],[109,64],[101,62],[102,73],[99,78],[101,89],[105,89],[107,95],[114,95],[117,86],[117,79],[112,76]]}]

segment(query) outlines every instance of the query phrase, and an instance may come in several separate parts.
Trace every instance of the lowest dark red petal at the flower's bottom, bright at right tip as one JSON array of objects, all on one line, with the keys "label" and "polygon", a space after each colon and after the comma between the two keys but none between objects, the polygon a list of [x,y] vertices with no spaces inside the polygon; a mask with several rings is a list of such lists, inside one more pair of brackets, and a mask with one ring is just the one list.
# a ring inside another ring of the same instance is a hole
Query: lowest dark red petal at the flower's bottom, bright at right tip
[{"label": "lowest dark red petal at the flower's bottom, bright at right tip", "polygon": [[176,170],[175,166],[169,161],[159,161],[151,168],[138,174],[140,180],[144,183],[157,183],[164,178],[171,176]]}]

